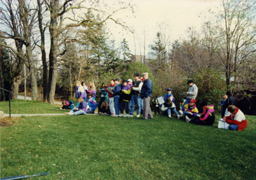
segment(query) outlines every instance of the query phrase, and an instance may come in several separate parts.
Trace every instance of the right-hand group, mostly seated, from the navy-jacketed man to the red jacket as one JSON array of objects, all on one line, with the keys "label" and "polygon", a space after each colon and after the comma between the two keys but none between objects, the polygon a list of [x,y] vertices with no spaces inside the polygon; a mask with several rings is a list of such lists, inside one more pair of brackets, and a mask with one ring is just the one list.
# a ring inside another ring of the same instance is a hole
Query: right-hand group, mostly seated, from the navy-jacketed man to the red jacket
[{"label": "right-hand group, mostly seated, from the navy-jacketed man to the red jacket", "polygon": [[[212,126],[215,121],[214,105],[208,105],[207,101],[202,102],[203,112],[199,113],[196,108],[196,96],[198,94],[198,87],[193,83],[193,80],[187,82],[189,89],[186,92],[185,99],[180,100],[179,113],[176,110],[175,99],[172,94],[172,89],[166,89],[167,93],[164,94],[164,103],[159,103],[158,97],[152,100],[154,105],[155,114],[160,113],[166,114],[169,118],[172,118],[172,112],[179,119],[181,116],[188,123],[195,123],[199,125]],[[221,121],[225,121],[230,124],[230,130],[244,130],[247,125],[246,118],[235,105],[236,101],[232,97],[230,91],[228,91],[221,100]]]}]

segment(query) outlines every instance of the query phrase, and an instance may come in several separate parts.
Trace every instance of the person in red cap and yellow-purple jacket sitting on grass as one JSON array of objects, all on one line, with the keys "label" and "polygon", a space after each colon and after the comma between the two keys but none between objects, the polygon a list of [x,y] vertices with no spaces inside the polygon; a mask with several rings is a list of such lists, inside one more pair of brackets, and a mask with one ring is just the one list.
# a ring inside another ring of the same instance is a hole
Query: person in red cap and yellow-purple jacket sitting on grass
[{"label": "person in red cap and yellow-purple jacket sitting on grass", "polygon": [[199,116],[198,109],[196,108],[196,100],[191,99],[188,104],[182,107],[183,110],[183,117],[189,122],[189,119]]}]

